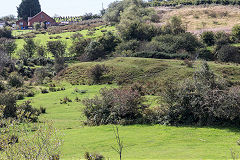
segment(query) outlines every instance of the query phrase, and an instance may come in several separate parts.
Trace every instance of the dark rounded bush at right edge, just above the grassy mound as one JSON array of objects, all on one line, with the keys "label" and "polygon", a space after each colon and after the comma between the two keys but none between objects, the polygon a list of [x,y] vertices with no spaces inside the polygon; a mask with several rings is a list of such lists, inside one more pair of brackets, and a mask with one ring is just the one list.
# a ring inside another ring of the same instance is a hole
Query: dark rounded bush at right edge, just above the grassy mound
[{"label": "dark rounded bush at right edge, just above the grassy mound", "polygon": [[240,63],[240,53],[238,47],[224,45],[216,52],[216,56],[221,62]]}]

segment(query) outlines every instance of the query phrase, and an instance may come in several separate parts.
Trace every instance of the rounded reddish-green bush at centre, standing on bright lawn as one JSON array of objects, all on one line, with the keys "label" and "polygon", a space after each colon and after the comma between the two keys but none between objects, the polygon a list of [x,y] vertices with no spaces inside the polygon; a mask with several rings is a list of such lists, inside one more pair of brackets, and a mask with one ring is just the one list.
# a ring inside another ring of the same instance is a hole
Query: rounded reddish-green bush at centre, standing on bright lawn
[{"label": "rounded reddish-green bush at centre, standing on bright lawn", "polygon": [[101,89],[100,97],[84,99],[88,125],[136,124],[143,120],[144,98],[130,89]]}]

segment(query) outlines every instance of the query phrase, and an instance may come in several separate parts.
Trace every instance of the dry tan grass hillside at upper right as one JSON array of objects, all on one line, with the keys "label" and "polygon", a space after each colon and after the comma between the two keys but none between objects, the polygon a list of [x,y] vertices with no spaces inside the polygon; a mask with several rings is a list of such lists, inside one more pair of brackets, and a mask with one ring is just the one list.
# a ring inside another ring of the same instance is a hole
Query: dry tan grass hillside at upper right
[{"label": "dry tan grass hillside at upper right", "polygon": [[231,31],[239,24],[240,9],[237,6],[200,5],[181,7],[155,7],[161,17],[160,24],[166,23],[170,17],[181,17],[187,30],[201,33],[204,30]]}]

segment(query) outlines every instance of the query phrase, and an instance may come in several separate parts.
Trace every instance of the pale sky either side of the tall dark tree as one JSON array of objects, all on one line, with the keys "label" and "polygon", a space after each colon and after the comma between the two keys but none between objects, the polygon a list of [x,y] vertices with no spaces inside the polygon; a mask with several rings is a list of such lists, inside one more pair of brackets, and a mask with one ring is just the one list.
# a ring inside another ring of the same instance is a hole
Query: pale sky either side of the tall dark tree
[{"label": "pale sky either side of the tall dark tree", "polygon": [[[17,6],[22,0],[1,0],[0,17],[13,14],[17,16]],[[102,3],[106,8],[115,0],[39,0],[42,10],[53,16],[80,16],[84,13],[99,13]]]}]

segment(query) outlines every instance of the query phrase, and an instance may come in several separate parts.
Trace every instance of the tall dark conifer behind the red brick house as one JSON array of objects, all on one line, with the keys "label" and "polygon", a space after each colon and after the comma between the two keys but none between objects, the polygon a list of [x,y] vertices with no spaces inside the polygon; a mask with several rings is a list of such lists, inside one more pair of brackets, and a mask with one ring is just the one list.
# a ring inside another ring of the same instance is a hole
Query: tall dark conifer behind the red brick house
[{"label": "tall dark conifer behind the red brick house", "polygon": [[41,12],[39,0],[22,0],[22,3],[17,7],[18,18],[27,21],[28,17],[33,17]]}]

